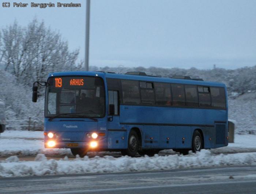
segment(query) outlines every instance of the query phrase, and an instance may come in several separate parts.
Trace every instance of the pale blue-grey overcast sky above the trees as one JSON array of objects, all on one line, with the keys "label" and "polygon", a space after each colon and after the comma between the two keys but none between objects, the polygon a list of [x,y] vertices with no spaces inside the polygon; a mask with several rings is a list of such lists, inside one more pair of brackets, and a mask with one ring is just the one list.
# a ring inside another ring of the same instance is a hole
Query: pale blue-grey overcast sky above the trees
[{"label": "pale blue-grey overcast sky above the trees", "polygon": [[[3,1],[3,0],[2,0]],[[84,60],[81,8],[3,8],[0,27],[36,16]],[[18,1],[17,1],[18,2]],[[49,3],[27,1],[23,3]],[[91,0],[90,65],[234,69],[256,65],[256,0]]]}]

